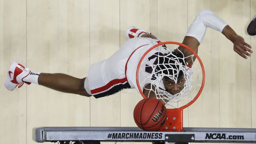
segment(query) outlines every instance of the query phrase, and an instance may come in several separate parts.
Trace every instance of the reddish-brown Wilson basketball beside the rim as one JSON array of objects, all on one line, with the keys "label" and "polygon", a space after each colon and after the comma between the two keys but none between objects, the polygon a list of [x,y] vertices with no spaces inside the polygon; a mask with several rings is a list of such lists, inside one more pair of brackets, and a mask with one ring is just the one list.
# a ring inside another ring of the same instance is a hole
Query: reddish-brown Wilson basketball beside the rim
[{"label": "reddish-brown Wilson basketball beside the rim", "polygon": [[166,107],[156,98],[146,98],[135,106],[133,118],[142,130],[157,131],[167,119]]}]

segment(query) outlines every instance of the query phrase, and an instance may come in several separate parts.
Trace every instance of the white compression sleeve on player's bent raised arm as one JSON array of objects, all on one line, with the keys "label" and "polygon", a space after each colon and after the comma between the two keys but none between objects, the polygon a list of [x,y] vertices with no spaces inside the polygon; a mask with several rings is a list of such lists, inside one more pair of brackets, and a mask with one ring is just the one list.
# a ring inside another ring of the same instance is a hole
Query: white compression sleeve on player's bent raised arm
[{"label": "white compression sleeve on player's bent raised arm", "polygon": [[190,25],[186,36],[196,38],[199,43],[202,43],[207,27],[222,32],[223,28],[228,25],[225,21],[219,18],[216,14],[208,9],[201,10]]}]

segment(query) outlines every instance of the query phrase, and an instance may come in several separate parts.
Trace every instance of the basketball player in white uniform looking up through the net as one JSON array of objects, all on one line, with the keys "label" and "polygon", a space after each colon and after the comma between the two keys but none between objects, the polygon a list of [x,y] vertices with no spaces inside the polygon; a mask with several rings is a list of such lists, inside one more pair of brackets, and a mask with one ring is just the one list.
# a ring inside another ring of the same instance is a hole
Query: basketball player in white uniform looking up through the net
[{"label": "basketball player in white uniform looking up through the net", "polygon": [[[251,46],[245,43],[241,36],[237,35],[227,23],[208,9],[204,9],[196,15],[182,43],[191,47],[197,53],[207,27],[225,35],[234,44],[233,50],[241,57],[247,59],[247,56],[251,56],[250,53],[253,53],[250,50]],[[21,64],[13,62],[8,70],[5,87],[13,91],[16,87],[20,88],[24,83],[35,83],[56,91],[87,97],[93,95],[95,98],[112,95],[126,88],[136,88],[138,90],[135,76],[138,61],[149,48],[160,43],[160,41],[150,32],[135,27],[129,27],[125,36],[128,40],[120,50],[110,58],[92,64],[89,67],[88,76],[83,79],[62,73],[31,72]],[[178,49],[182,51],[184,56],[192,54],[181,46]],[[162,47],[162,51],[164,52],[164,47]],[[187,59],[186,62],[189,65],[193,64],[192,59]],[[182,74],[180,77],[177,82],[171,79],[163,79],[161,88],[171,94],[179,93],[184,85]],[[144,94],[155,97],[147,89],[144,89]]]}]

